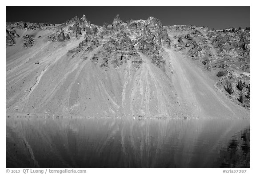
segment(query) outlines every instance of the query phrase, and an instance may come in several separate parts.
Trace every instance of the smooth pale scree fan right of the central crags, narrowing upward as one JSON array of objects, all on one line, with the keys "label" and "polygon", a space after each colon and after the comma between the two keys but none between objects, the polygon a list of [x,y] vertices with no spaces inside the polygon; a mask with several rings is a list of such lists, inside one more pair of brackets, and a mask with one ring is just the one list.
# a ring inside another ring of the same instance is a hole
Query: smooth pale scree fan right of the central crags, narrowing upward
[{"label": "smooth pale scree fan right of the central crags, narrowing upward", "polygon": [[189,57],[165,49],[172,62],[173,85],[179,100],[193,108],[193,115],[225,118],[247,117],[250,112],[237,106],[216,89],[216,82],[200,70]]}]

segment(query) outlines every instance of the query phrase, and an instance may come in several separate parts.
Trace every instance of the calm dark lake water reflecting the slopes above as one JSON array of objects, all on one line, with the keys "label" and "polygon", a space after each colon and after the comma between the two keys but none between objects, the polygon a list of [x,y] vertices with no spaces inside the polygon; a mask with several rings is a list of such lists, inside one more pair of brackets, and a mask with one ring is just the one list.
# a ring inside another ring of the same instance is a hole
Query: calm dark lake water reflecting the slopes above
[{"label": "calm dark lake water reflecting the slopes above", "polygon": [[250,167],[250,120],[7,117],[6,167]]}]

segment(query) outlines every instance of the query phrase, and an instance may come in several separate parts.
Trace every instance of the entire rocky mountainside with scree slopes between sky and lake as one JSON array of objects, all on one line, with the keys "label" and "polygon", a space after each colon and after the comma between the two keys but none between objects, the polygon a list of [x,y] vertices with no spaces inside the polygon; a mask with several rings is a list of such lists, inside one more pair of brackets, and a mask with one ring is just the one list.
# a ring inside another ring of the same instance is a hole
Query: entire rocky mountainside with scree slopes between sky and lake
[{"label": "entire rocky mountainside with scree slopes between sky and lake", "polygon": [[6,23],[12,114],[249,116],[249,69],[246,30],[163,26],[154,17],[123,22],[119,15],[102,27],[85,15],[62,24]]}]

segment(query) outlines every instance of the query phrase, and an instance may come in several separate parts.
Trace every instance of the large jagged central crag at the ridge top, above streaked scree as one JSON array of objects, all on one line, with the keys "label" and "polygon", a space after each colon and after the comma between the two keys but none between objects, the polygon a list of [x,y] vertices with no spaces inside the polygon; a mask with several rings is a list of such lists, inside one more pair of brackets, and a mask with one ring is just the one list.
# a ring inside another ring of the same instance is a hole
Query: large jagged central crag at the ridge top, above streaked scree
[{"label": "large jagged central crag at the ridge top, above streaked scree", "polygon": [[143,63],[138,54],[140,51],[160,68],[165,64],[160,51],[164,46],[169,47],[170,43],[168,33],[160,20],[149,17],[147,20],[131,20],[125,23],[116,15],[112,24],[104,23],[100,29],[92,24],[85,27],[84,41],[69,53],[89,52],[102,45],[103,50],[91,59],[92,62],[99,63],[101,68],[109,70],[112,67],[119,68],[128,60],[132,61],[134,68],[139,69]]}]

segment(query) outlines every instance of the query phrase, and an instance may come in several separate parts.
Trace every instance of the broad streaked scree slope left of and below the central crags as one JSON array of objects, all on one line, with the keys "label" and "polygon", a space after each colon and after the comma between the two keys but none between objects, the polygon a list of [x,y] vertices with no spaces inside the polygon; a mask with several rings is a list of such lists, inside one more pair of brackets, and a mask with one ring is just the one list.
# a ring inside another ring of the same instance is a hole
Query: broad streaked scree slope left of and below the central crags
[{"label": "broad streaked scree slope left of and below the central crags", "polygon": [[[40,33],[38,33],[40,34]],[[80,40],[51,43],[38,39],[6,53],[6,108],[8,112],[60,113],[84,116],[182,116],[172,79],[142,53],[136,70],[131,61],[120,69],[104,70],[91,58],[68,55]],[[16,49],[20,50],[16,52]]]}]

